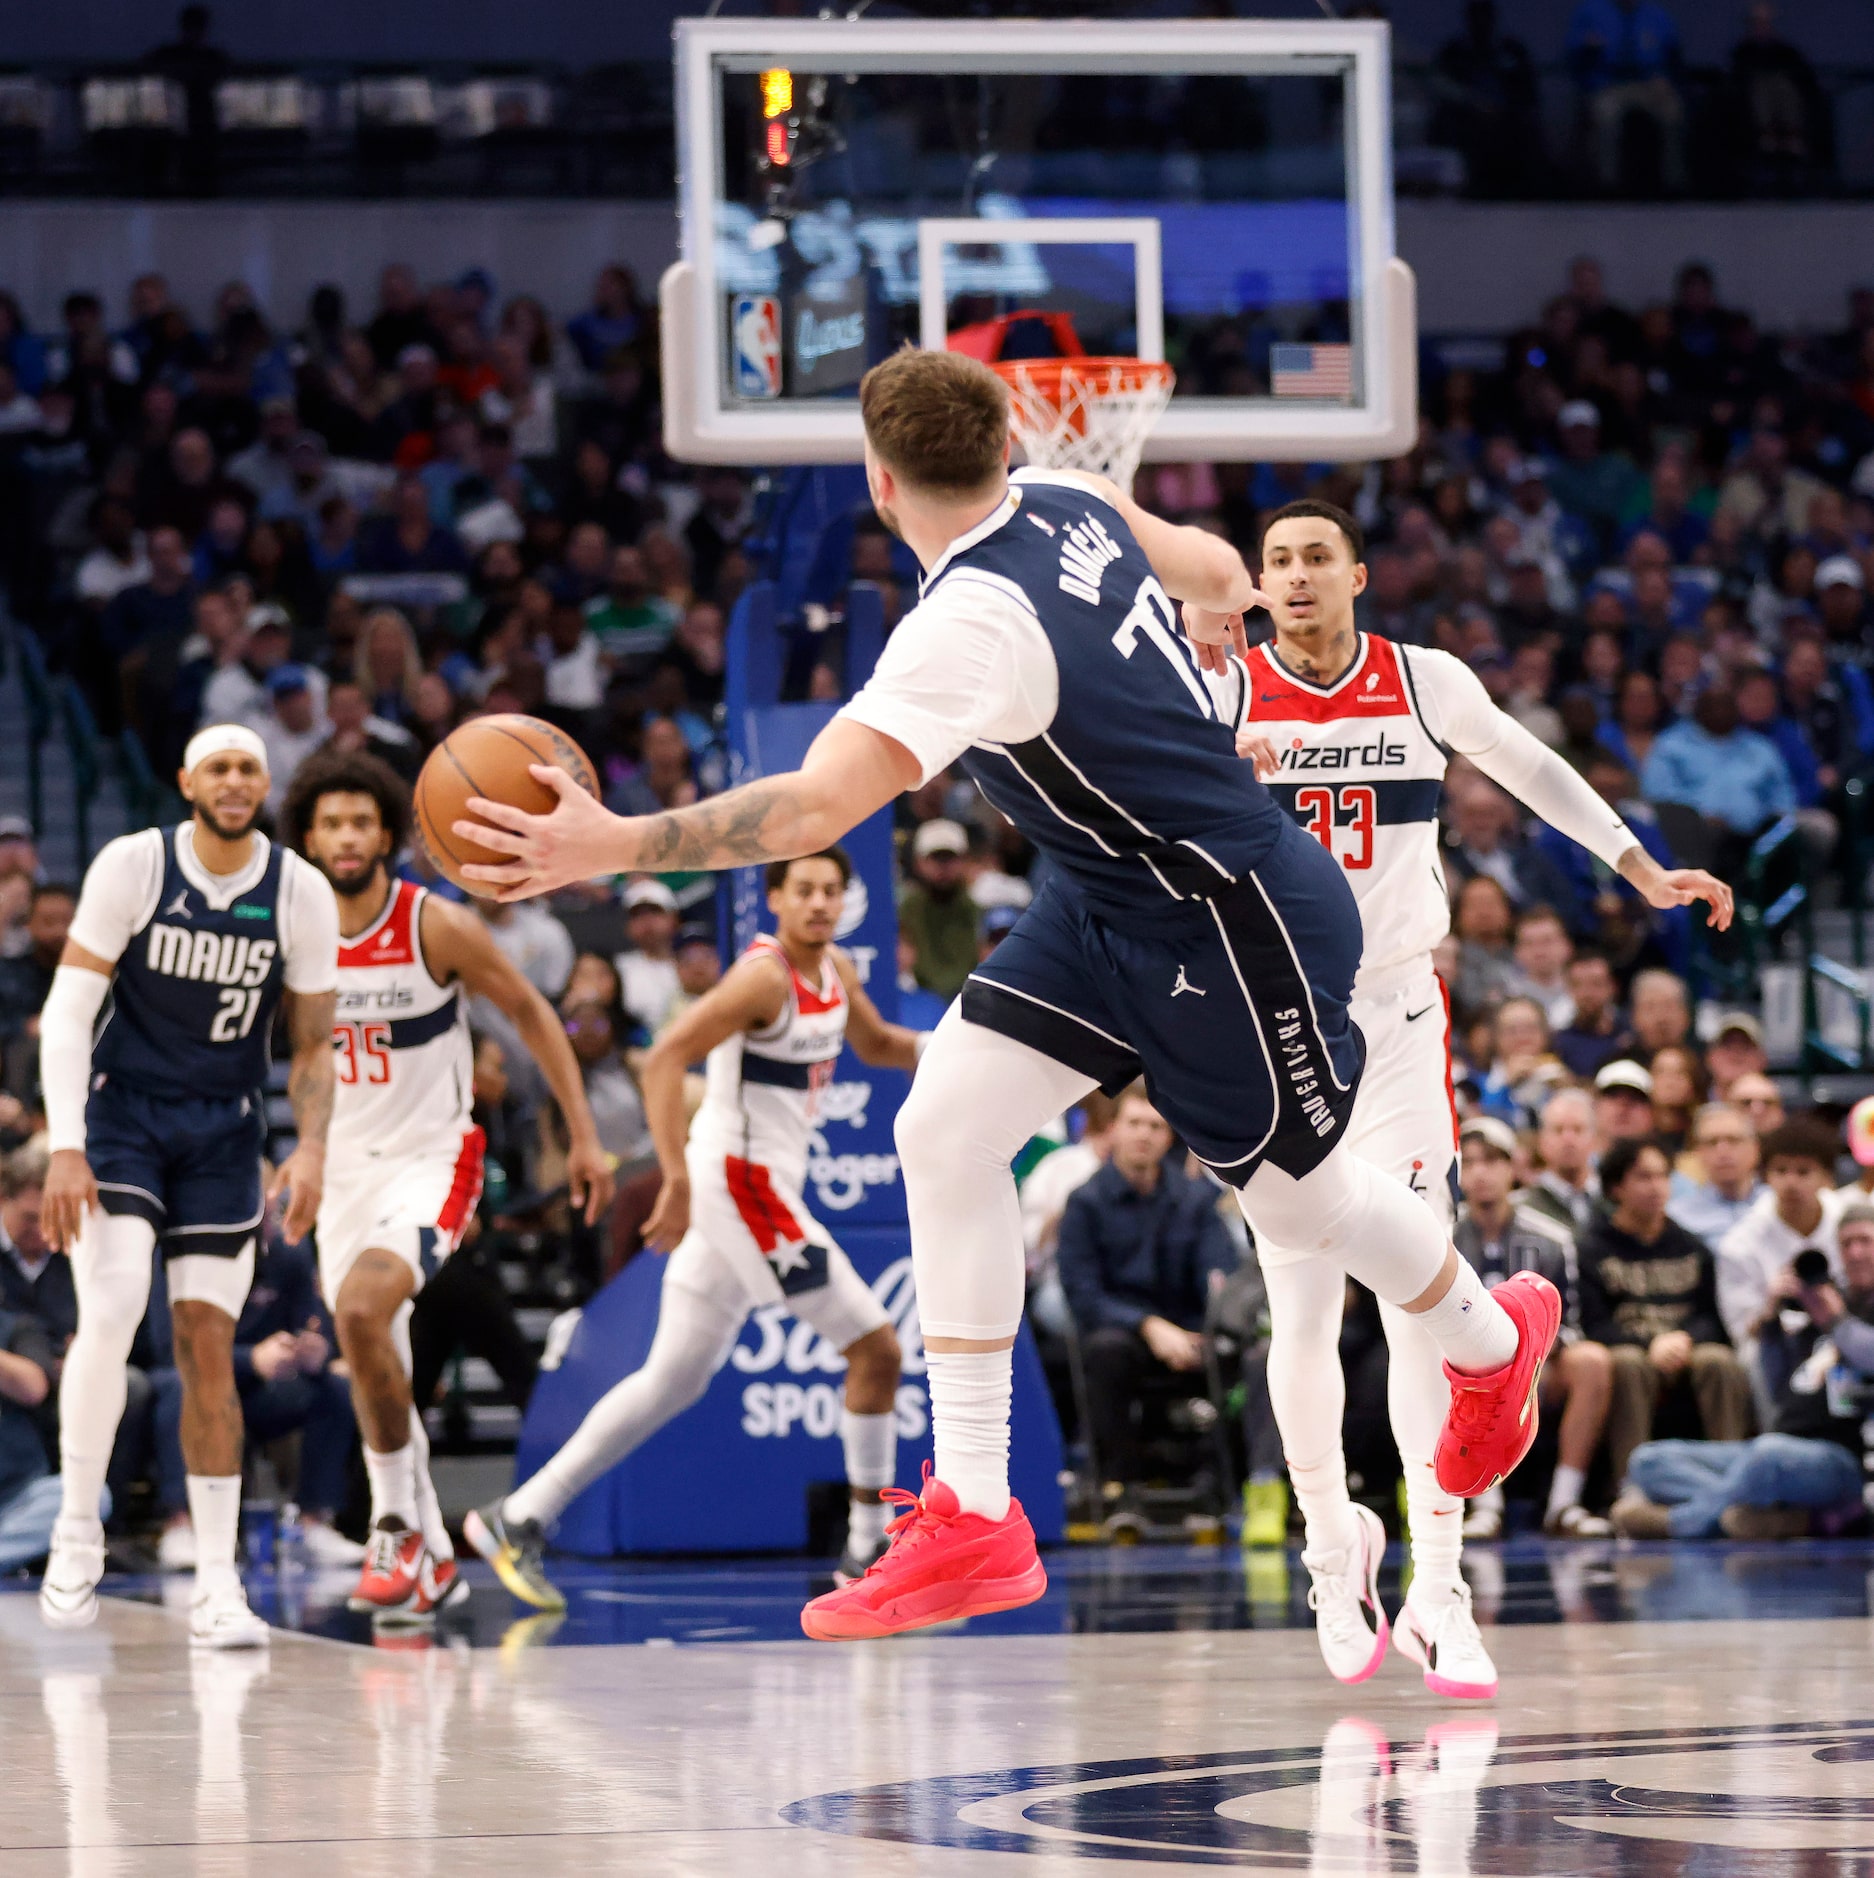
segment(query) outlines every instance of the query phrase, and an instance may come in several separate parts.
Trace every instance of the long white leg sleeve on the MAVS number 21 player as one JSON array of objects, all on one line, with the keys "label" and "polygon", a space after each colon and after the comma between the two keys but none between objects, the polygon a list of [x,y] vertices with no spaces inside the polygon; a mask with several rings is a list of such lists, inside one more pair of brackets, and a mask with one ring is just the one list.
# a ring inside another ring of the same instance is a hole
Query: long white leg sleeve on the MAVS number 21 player
[{"label": "long white leg sleeve on the MAVS number 21 player", "polygon": [[128,1213],[84,1215],[71,1247],[79,1328],[58,1382],[60,1514],[92,1521],[124,1420],[124,1365],[150,1303],[156,1228]]}]

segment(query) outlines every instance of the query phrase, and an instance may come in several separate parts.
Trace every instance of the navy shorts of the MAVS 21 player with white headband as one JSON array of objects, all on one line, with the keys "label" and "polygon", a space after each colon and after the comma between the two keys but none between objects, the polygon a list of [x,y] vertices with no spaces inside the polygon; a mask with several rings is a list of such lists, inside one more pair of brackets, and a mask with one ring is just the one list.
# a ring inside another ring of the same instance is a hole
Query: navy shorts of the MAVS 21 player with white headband
[{"label": "navy shorts of the MAVS 21 player with white headband", "polygon": [[146,1219],[163,1258],[238,1258],[259,1232],[257,1097],[150,1095],[105,1078],[84,1104],[84,1138],[98,1204]]}]

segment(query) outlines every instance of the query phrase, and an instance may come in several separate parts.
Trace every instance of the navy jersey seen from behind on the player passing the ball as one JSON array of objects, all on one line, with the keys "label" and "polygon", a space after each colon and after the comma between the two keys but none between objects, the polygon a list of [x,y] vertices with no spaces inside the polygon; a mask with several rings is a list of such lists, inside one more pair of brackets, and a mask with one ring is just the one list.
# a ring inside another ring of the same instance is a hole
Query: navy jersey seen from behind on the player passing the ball
[{"label": "navy jersey seen from behind on the player passing the ball", "polygon": [[1115,509],[1020,471],[1018,507],[965,543],[926,597],[988,578],[1040,622],[1059,706],[1040,736],[961,757],[982,793],[1119,926],[1181,915],[1249,875],[1283,811],[1236,753],[1177,608]]}]

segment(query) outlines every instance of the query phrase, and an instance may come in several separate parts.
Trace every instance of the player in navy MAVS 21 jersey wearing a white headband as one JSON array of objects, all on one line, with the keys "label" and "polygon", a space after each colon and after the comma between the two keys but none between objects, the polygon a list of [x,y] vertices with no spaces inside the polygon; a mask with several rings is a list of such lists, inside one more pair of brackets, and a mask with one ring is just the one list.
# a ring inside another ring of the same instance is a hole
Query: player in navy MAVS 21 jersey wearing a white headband
[{"label": "player in navy MAVS 21 jersey wearing a white headband", "polygon": [[[58,1390],[64,1502],[39,1609],[68,1628],[98,1615],[98,1497],[160,1243],[195,1527],[190,1638],[210,1649],[252,1649],[265,1645],[267,1626],[248,1609],[235,1568],[242,1461],[235,1322],[269,1200],[285,1194],[284,1232],[295,1241],[319,1209],[332,1117],[338,905],[315,868],[255,832],[269,777],[267,749],[252,731],[197,732],[178,781],[190,821],[120,836],[86,871],[39,1014],[53,1149],[45,1230],[71,1255],[79,1296]],[[282,999],[299,1146],[263,1194],[263,1091]]]}]

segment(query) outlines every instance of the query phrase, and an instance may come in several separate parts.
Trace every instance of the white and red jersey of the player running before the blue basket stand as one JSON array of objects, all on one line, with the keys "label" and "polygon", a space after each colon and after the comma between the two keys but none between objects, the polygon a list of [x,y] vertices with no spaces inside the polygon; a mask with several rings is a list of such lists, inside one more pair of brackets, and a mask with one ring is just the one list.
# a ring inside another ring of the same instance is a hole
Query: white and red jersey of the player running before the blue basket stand
[{"label": "white and red jersey of the player running before the blue basket stand", "polygon": [[710,1052],[689,1146],[693,1157],[700,1149],[764,1166],[800,1193],[819,1123],[819,1093],[832,1082],[845,1048],[845,984],[830,958],[821,982],[809,984],[772,933],[762,933],[742,956],[777,958],[787,967],[787,1003],[766,1029],[742,1031]]}]

